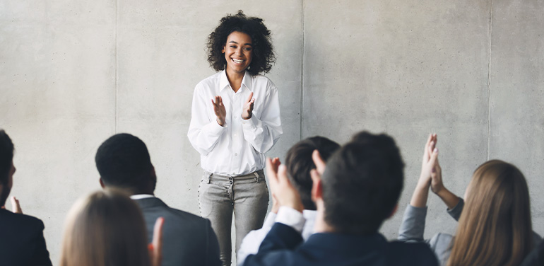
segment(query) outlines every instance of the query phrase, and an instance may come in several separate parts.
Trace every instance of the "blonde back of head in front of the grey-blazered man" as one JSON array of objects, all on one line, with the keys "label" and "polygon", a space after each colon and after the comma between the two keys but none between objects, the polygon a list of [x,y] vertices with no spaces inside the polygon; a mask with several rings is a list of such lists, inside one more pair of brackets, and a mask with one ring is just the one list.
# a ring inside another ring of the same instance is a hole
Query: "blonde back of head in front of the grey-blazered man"
[{"label": "blonde back of head in front of the grey-blazered man", "polygon": [[79,199],[66,218],[60,265],[150,265],[146,226],[136,203],[114,190]]}]

